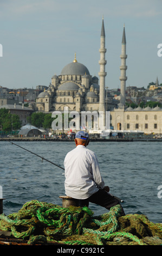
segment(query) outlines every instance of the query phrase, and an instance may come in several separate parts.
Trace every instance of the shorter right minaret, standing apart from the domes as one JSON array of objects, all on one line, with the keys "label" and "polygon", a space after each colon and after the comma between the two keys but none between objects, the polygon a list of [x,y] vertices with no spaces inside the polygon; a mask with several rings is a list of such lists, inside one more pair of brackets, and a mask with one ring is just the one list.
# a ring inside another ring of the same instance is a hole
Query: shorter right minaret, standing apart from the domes
[{"label": "shorter right minaret, standing apart from the domes", "polygon": [[126,102],[126,70],[127,70],[127,66],[126,66],[126,35],[125,35],[125,26],[124,26],[124,30],[123,30],[123,34],[122,34],[122,43],[121,43],[121,66],[120,66],[120,70],[121,70],[121,76],[120,76],[120,106],[124,106],[125,102]]}]

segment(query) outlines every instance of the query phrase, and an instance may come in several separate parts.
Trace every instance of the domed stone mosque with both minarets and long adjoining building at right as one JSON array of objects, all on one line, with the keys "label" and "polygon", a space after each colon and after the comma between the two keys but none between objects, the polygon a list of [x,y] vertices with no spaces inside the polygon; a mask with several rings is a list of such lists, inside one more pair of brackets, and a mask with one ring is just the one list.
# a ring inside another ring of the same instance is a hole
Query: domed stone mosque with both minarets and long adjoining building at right
[{"label": "domed stone mosque with both minarets and long adjoining building at right", "polygon": [[120,101],[107,94],[105,87],[106,48],[105,27],[102,19],[100,36],[100,71],[99,78],[92,76],[87,67],[77,62],[76,54],[72,63],[67,64],[59,76],[54,75],[47,90],[36,99],[37,111],[51,113],[68,111],[110,111],[110,124],[114,130],[144,131],[145,133],[162,133],[162,109],[157,108],[126,108],[126,34],[125,26],[121,41],[121,75]]}]

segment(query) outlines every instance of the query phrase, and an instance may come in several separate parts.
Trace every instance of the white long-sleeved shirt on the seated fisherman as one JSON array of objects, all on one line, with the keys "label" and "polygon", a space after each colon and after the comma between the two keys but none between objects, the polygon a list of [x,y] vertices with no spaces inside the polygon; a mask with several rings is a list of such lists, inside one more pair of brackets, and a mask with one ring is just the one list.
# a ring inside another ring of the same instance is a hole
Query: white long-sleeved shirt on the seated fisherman
[{"label": "white long-sleeved shirt on the seated fisherman", "polygon": [[69,197],[87,199],[104,188],[95,153],[83,145],[77,145],[64,159],[65,192]]}]

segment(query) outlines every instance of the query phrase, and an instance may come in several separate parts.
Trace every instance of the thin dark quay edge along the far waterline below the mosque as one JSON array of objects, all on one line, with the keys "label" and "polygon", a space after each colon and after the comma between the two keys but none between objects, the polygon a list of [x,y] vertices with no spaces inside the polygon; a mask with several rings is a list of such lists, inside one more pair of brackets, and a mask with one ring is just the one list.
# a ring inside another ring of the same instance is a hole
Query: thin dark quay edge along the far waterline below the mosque
[{"label": "thin dark quay edge along the far waterline below the mosque", "polygon": [[[15,141],[15,142],[74,142],[74,139],[60,139],[60,138],[0,138],[1,141]],[[102,138],[93,138],[89,139],[90,142],[162,142],[162,138],[113,138],[113,139],[102,139]]]}]

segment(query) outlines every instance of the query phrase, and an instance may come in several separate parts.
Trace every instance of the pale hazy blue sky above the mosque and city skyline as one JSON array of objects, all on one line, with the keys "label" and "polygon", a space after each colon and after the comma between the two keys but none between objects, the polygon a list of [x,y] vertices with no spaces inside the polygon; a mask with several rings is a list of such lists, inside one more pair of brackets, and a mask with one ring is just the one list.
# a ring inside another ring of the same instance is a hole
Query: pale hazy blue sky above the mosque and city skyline
[{"label": "pale hazy blue sky above the mosque and city skyline", "polygon": [[[127,42],[126,86],[162,83],[161,0],[0,0],[0,86],[49,86],[65,65],[84,64],[100,71],[100,34],[106,33],[106,86],[120,88],[121,40]],[[99,77],[99,76],[98,76]]]}]

